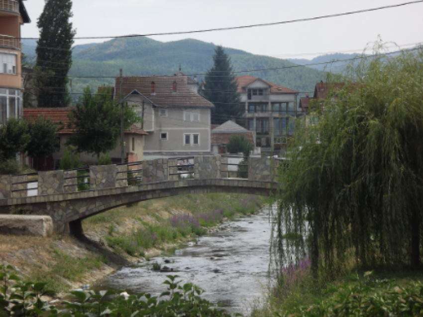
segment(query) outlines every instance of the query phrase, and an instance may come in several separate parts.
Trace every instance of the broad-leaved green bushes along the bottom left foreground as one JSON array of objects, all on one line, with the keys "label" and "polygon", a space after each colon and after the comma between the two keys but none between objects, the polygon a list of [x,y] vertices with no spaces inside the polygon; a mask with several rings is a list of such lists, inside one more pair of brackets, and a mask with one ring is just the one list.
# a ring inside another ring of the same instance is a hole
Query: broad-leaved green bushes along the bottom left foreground
[{"label": "broad-leaved green bushes along the bottom left foreground", "polygon": [[[116,293],[73,291],[70,294],[74,299],[62,302],[65,305],[63,312],[42,300],[42,296],[54,294],[46,290],[47,283],[23,282],[11,266],[0,265],[0,270],[0,279],[4,281],[4,287],[0,290],[3,317],[57,317],[59,314],[62,317],[230,317],[225,310],[217,309],[209,301],[201,299],[204,291],[200,287],[192,283],[181,285],[182,281],[176,281],[177,275],[167,275],[168,280],[163,284],[169,291],[157,297],[145,293],[110,297]],[[7,282],[12,283],[12,287],[6,286]]]}]

